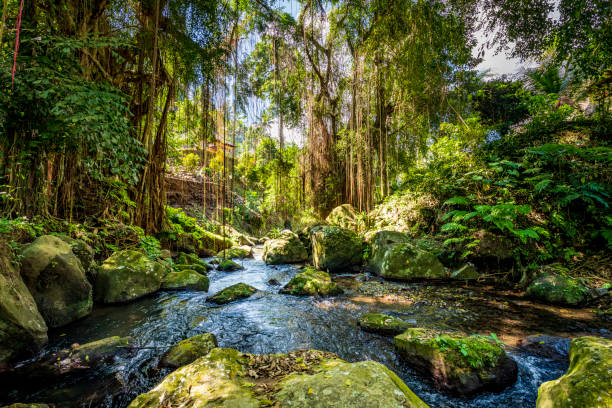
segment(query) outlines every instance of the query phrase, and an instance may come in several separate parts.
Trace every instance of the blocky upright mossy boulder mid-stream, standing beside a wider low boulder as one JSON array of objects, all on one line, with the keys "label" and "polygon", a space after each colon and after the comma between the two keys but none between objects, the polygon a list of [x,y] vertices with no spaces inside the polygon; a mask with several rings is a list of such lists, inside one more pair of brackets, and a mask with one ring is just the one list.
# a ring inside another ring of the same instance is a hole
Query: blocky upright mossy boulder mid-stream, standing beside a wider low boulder
[{"label": "blocky upright mossy boulder mid-stream, standing beside a wider low boulder", "polygon": [[353,231],[321,226],[312,230],[311,240],[315,268],[336,272],[361,265],[363,241]]}]

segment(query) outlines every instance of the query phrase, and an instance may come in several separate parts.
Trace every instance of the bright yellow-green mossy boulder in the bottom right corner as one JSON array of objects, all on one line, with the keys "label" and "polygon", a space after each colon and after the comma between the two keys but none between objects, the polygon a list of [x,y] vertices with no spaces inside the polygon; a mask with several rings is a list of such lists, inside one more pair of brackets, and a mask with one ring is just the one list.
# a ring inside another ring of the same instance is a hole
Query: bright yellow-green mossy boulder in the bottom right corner
[{"label": "bright yellow-green mossy boulder in the bottom right corner", "polygon": [[612,340],[579,337],[569,353],[567,373],[540,386],[536,408],[612,407]]}]

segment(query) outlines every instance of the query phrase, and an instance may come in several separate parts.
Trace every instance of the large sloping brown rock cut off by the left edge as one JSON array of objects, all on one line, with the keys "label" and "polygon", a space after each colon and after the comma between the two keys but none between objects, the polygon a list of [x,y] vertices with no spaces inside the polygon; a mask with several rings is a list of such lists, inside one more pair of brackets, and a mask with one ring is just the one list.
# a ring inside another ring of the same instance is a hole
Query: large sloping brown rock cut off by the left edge
[{"label": "large sloping brown rock cut off by the left edge", "polygon": [[11,262],[11,249],[0,243],[0,371],[46,343],[47,324]]}]

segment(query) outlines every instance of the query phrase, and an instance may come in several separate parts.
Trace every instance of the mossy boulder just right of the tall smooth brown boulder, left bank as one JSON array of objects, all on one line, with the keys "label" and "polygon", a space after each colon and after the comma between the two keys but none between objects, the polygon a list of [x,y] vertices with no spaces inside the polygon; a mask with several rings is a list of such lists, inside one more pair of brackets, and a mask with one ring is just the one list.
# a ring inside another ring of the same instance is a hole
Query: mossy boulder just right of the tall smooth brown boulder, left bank
[{"label": "mossy boulder just right of the tall smooth brown boulder, left bank", "polygon": [[96,301],[128,302],[157,292],[165,268],[138,251],[115,252],[98,268],[95,285]]}]

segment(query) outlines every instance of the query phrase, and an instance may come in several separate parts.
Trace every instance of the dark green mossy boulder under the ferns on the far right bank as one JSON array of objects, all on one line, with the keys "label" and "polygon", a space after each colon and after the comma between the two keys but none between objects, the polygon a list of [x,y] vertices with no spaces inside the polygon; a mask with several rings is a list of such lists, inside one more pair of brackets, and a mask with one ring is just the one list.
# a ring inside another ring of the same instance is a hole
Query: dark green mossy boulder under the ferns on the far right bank
[{"label": "dark green mossy boulder under the ferns on the far right bank", "polygon": [[527,296],[555,305],[579,306],[588,300],[589,289],[578,279],[546,271],[529,284]]}]

